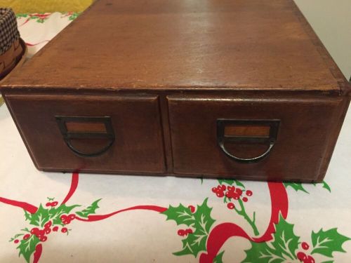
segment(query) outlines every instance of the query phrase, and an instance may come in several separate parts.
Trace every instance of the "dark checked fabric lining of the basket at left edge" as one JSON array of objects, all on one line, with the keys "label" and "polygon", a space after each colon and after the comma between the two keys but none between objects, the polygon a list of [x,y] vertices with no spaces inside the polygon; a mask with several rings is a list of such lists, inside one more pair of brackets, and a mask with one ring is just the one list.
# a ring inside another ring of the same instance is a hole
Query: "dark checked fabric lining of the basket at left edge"
[{"label": "dark checked fabric lining of the basket at left edge", "polygon": [[11,8],[0,8],[0,55],[20,38],[15,13]]}]

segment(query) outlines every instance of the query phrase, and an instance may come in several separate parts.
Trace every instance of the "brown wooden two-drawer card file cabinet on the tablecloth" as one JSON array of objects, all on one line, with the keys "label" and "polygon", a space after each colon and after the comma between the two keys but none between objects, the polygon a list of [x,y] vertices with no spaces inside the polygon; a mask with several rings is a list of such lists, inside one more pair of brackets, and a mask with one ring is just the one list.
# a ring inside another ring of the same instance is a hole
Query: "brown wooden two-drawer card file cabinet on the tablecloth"
[{"label": "brown wooden two-drawer card file cabinet on the tablecloth", "polygon": [[291,0],[96,1],[1,92],[40,170],[300,182],[350,101]]}]

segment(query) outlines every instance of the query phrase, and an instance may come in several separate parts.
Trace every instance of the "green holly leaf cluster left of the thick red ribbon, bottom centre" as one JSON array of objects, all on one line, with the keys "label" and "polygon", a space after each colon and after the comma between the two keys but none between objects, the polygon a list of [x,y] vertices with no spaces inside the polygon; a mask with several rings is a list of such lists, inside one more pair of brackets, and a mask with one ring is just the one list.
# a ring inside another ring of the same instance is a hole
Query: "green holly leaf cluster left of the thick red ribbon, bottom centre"
[{"label": "green holly leaf cluster left of the thick red ribbon, bottom centre", "polygon": [[192,234],[188,234],[183,239],[183,250],[174,252],[174,255],[194,255],[194,257],[197,257],[200,251],[206,251],[208,233],[215,222],[211,217],[211,210],[212,208],[207,205],[206,198],[204,203],[197,205],[197,210],[193,214],[190,208],[185,208],[182,204],[178,207],[170,205],[168,210],[164,212],[167,220],[174,220],[178,225],[185,224],[194,229]]}]

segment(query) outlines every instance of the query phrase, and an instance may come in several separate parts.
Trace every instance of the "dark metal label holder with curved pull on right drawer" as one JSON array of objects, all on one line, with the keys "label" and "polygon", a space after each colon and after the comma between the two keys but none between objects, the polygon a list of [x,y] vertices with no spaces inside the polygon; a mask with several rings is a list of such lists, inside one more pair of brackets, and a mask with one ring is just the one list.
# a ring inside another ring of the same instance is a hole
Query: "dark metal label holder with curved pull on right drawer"
[{"label": "dark metal label holder with curved pull on right drawer", "polygon": [[[257,163],[264,159],[272,151],[277,140],[279,120],[217,120],[218,146],[230,159],[239,163]],[[225,144],[230,142],[268,144],[267,150],[253,158],[240,158],[231,154]]]}]

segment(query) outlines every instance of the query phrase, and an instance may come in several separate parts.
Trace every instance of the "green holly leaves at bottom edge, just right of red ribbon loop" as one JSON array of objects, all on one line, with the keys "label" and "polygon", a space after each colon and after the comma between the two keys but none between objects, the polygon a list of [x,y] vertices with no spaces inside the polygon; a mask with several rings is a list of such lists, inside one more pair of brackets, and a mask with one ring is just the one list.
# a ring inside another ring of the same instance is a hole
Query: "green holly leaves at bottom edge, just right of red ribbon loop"
[{"label": "green holly leaves at bottom edge, just right of red ribbon loop", "polygon": [[279,216],[272,241],[256,243],[251,241],[251,249],[245,250],[244,262],[280,263],[297,259],[299,237],[293,232],[293,224]]}]

